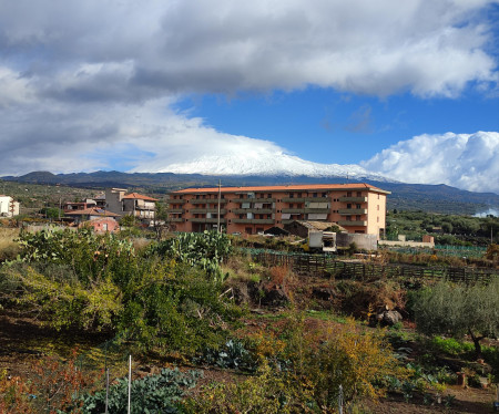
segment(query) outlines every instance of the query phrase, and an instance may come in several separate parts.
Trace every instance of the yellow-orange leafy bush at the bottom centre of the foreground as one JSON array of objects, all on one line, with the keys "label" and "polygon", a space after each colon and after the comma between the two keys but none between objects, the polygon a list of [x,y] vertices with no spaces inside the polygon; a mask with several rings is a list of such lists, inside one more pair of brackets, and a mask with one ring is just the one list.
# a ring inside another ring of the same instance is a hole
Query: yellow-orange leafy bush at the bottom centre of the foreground
[{"label": "yellow-orange leafy bush at the bottom centre of the foreground", "polygon": [[189,413],[323,413],[337,407],[339,386],[347,404],[383,395],[374,383],[396,374],[383,331],[368,331],[353,320],[305,330],[294,314],[282,331],[253,337],[261,362],[257,375],[240,383],[206,387],[187,401]]}]

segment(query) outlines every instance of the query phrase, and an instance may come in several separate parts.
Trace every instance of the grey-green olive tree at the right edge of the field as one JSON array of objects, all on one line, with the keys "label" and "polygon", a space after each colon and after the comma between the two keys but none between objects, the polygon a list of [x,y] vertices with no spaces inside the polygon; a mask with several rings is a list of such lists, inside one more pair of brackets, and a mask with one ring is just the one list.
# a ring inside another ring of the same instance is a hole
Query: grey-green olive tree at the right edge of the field
[{"label": "grey-green olive tree at the right edge of the field", "polygon": [[480,341],[499,335],[499,278],[470,287],[440,282],[424,289],[414,304],[417,330],[427,335],[469,334],[477,358]]}]

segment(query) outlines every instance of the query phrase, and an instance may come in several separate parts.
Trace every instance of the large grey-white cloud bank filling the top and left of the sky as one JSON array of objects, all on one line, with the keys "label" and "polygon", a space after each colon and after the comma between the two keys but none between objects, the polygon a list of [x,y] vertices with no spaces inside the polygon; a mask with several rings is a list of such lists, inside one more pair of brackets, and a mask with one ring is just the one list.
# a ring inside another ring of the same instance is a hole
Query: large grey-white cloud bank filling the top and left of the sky
[{"label": "large grey-white cloud bank filling the top and left of the sky", "polygon": [[[190,93],[318,86],[454,97],[468,84],[495,89],[493,38],[483,17],[492,3],[0,2],[0,175],[116,163],[160,170],[255,147],[286,153],[173,110]],[[365,110],[352,128],[368,130],[369,116]]]}]

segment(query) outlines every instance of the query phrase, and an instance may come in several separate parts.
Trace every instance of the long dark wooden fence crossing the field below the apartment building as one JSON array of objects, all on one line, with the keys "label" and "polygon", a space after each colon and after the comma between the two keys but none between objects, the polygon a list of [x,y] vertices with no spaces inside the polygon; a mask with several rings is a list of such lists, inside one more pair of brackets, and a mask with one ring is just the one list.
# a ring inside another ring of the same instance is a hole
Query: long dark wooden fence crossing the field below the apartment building
[{"label": "long dark wooden fence crossing the field below the apartment building", "polygon": [[253,259],[266,266],[288,266],[303,276],[337,279],[369,280],[381,278],[413,278],[450,280],[464,283],[488,283],[499,271],[481,268],[442,268],[410,265],[377,265],[359,261],[335,260],[330,256],[283,255],[272,252],[253,253]]}]

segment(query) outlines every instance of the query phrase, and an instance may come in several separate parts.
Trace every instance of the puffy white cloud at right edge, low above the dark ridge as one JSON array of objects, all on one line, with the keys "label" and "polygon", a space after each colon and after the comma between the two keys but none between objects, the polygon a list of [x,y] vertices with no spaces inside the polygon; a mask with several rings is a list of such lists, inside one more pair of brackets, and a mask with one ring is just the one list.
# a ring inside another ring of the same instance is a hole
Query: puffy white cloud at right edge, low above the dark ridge
[{"label": "puffy white cloud at right edge, low above the dark ridge", "polygon": [[419,135],[391,145],[361,165],[406,183],[499,194],[499,132]]}]

